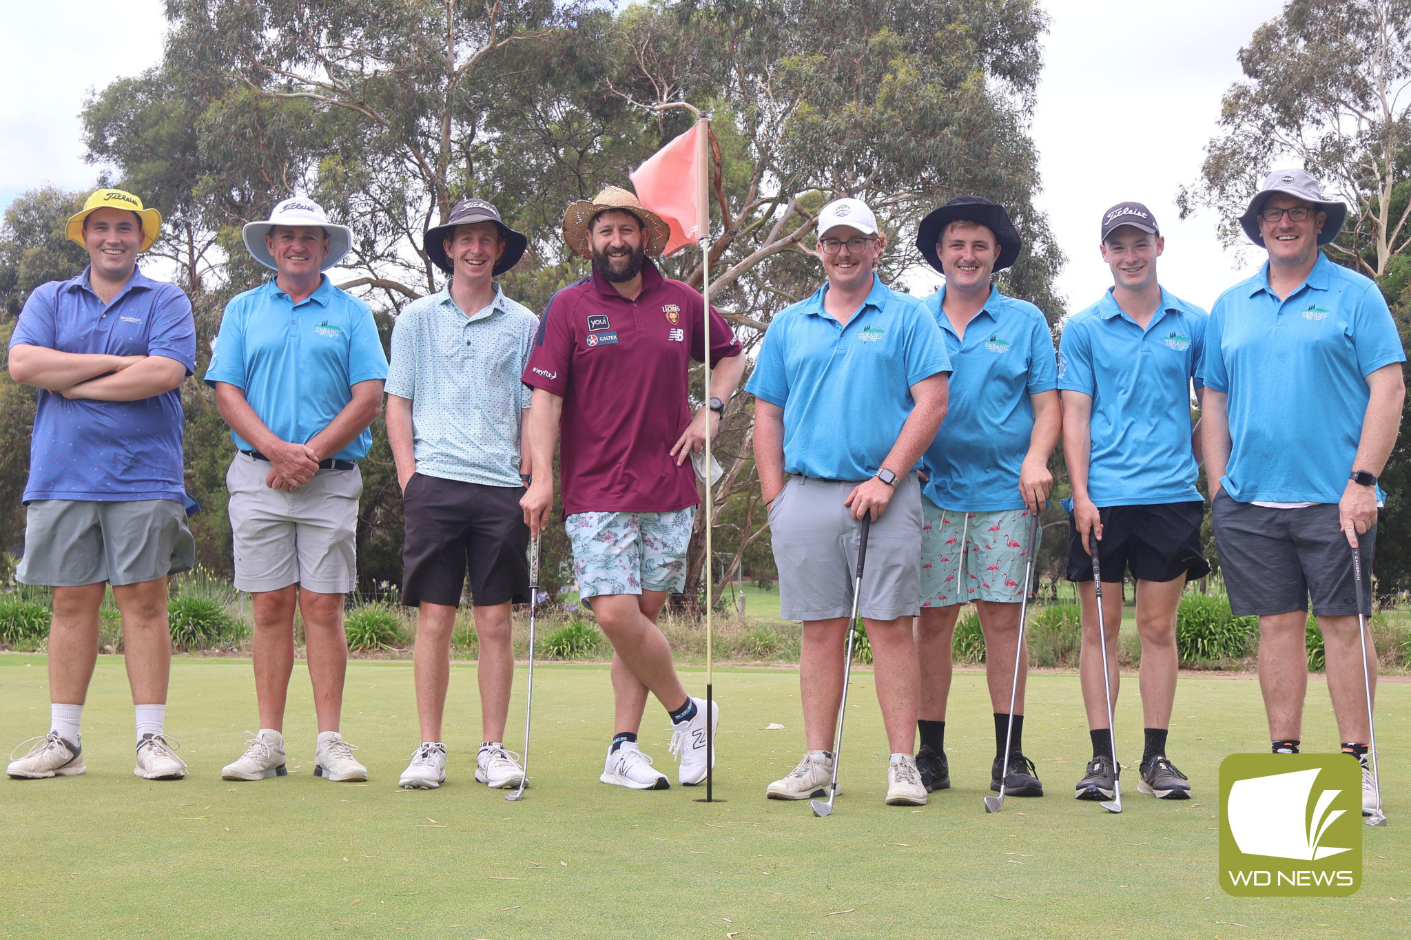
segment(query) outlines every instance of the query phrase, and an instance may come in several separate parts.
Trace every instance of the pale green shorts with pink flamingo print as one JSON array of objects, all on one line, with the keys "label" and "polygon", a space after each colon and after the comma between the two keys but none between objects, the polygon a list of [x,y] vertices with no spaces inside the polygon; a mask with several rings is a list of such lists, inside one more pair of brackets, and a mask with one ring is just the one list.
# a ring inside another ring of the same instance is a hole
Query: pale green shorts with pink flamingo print
[{"label": "pale green shorts with pink flamingo print", "polygon": [[1023,599],[1027,509],[958,513],[923,496],[921,512],[923,607]]}]

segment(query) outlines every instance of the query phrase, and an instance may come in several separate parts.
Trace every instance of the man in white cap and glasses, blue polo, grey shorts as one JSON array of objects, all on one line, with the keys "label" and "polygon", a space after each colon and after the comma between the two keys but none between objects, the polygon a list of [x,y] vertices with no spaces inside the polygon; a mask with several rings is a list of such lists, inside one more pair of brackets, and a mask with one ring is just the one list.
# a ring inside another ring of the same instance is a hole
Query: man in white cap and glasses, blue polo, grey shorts
[{"label": "man in white cap and glasses, blue polo, grey shorts", "polygon": [[861,200],[818,216],[828,282],[769,324],[746,385],[755,462],[769,506],[782,616],[803,621],[799,684],[807,753],[765,791],[827,796],[842,698],[852,575],[872,519],[859,610],[890,746],[886,802],[926,805],[916,769],[921,489],[912,468],[945,417],[945,341],[935,320],[875,273],[886,245]]}]

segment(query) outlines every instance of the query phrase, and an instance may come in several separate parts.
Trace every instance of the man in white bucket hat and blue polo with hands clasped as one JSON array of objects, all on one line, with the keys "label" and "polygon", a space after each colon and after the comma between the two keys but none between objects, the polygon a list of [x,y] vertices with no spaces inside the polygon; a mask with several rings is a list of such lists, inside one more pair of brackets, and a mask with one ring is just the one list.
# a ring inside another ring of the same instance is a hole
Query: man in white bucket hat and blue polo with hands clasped
[{"label": "man in white bucket hat and blue polo with hands clasped", "polygon": [[260,731],[224,779],[285,774],[284,706],[293,610],[303,617],[313,706],[313,774],[365,781],[339,734],[347,640],[343,595],[357,585],[357,461],[382,409],[387,357],[365,303],[323,272],[351,244],[346,225],[302,197],[244,227],[246,248],[277,273],[226,306],[206,382],[240,451],[226,472],[236,588],[254,607]]}]

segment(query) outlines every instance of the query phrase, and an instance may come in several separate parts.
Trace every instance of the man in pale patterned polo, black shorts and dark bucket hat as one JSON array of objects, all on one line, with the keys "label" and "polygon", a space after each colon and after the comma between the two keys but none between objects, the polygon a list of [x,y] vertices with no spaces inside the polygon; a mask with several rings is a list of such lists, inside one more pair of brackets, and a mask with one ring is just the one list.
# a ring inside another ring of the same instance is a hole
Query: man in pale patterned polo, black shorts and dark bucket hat
[{"label": "man in pale patterned polo, black shorts and dark bucket hat", "polygon": [[467,568],[480,636],[476,781],[507,788],[523,778],[504,740],[515,671],[511,603],[529,603],[529,528],[519,497],[529,476],[521,430],[531,392],[519,376],[539,319],[494,278],[515,266],[526,242],[491,203],[457,203],[423,242],[450,280],[402,310],[392,328],[387,440],[406,521],[402,603],[418,607],[422,734],[401,786],[435,789],[446,779],[442,716]]}]

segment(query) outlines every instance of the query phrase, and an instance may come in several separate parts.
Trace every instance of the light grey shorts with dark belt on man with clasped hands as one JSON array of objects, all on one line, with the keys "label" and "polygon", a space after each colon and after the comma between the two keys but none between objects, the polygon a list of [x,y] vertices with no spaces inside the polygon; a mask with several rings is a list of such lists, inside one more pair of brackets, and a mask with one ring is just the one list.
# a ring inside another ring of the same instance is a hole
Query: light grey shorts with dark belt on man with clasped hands
[{"label": "light grey shorts with dark belt on man with clasped hands", "polygon": [[268,461],[236,454],[226,471],[236,589],[278,590],[298,583],[319,593],[357,586],[357,500],[363,474],[322,469],[288,492],[265,486]]}]

